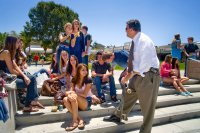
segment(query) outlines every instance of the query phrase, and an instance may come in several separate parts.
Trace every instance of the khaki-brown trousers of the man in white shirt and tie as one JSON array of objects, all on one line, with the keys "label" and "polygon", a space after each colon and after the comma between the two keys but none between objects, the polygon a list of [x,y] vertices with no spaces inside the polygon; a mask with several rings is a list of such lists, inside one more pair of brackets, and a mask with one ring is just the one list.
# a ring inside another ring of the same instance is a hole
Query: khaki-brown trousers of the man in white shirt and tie
[{"label": "khaki-brown trousers of the man in white shirt and tie", "polygon": [[135,75],[129,80],[128,88],[132,90],[122,95],[122,102],[115,110],[114,114],[119,118],[127,120],[129,112],[139,100],[143,124],[140,133],[151,133],[154,112],[156,107],[158,89],[160,84],[160,75],[153,72],[147,72],[145,77]]}]

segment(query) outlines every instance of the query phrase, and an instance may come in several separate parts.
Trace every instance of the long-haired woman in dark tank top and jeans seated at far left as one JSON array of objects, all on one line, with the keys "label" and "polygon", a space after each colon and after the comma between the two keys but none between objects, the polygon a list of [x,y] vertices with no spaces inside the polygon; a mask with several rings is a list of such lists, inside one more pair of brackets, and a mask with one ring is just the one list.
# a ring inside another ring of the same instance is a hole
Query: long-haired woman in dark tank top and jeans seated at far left
[{"label": "long-haired woman in dark tank top and jeans seated at far left", "polygon": [[27,88],[23,111],[37,112],[38,108],[43,109],[44,106],[38,102],[39,94],[37,89],[36,77],[24,71],[25,65],[19,65],[24,64],[24,59],[22,59],[22,61],[19,61],[19,59],[16,58],[16,52],[20,45],[20,39],[12,36],[8,36],[6,38],[4,48],[0,51],[0,70],[3,70],[5,73],[17,75],[17,89]]}]

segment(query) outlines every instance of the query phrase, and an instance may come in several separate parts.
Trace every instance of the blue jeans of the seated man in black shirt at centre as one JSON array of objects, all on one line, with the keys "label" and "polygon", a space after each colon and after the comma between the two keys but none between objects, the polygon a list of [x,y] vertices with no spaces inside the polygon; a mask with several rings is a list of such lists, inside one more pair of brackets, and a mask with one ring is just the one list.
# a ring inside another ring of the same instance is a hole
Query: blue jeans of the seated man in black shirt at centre
[{"label": "blue jeans of the seated man in black shirt at centre", "polygon": [[[102,77],[96,76],[94,78],[94,82],[95,82],[95,86],[97,89],[97,93],[98,93],[98,97],[99,98],[105,98],[105,95],[102,91],[101,88],[101,81],[102,81]],[[116,87],[115,87],[115,80],[113,76],[109,76],[109,85],[110,85],[110,96],[116,96]]]}]

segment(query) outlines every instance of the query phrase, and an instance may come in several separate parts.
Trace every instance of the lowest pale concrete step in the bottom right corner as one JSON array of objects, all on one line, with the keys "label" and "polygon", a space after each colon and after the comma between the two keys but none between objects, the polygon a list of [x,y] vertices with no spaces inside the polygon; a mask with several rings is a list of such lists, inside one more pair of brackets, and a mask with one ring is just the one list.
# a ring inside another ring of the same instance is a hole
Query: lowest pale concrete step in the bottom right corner
[{"label": "lowest pale concrete step in the bottom right corner", "polygon": [[[199,123],[200,118],[193,118],[189,120],[153,126],[151,132],[163,133],[163,131],[165,131],[165,133],[200,133]],[[139,133],[139,129],[127,133]]]}]

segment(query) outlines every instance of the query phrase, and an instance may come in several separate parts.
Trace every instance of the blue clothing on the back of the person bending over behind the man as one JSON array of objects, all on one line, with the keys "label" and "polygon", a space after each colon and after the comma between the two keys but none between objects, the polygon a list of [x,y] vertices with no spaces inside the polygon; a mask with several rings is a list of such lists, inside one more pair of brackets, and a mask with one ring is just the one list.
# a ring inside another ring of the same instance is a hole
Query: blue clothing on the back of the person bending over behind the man
[{"label": "blue clothing on the back of the person bending over behind the man", "polygon": [[116,51],[114,52],[115,58],[113,60],[113,64],[118,64],[119,66],[121,66],[122,68],[126,68],[128,63],[128,51],[126,50],[120,50],[120,51]]}]

